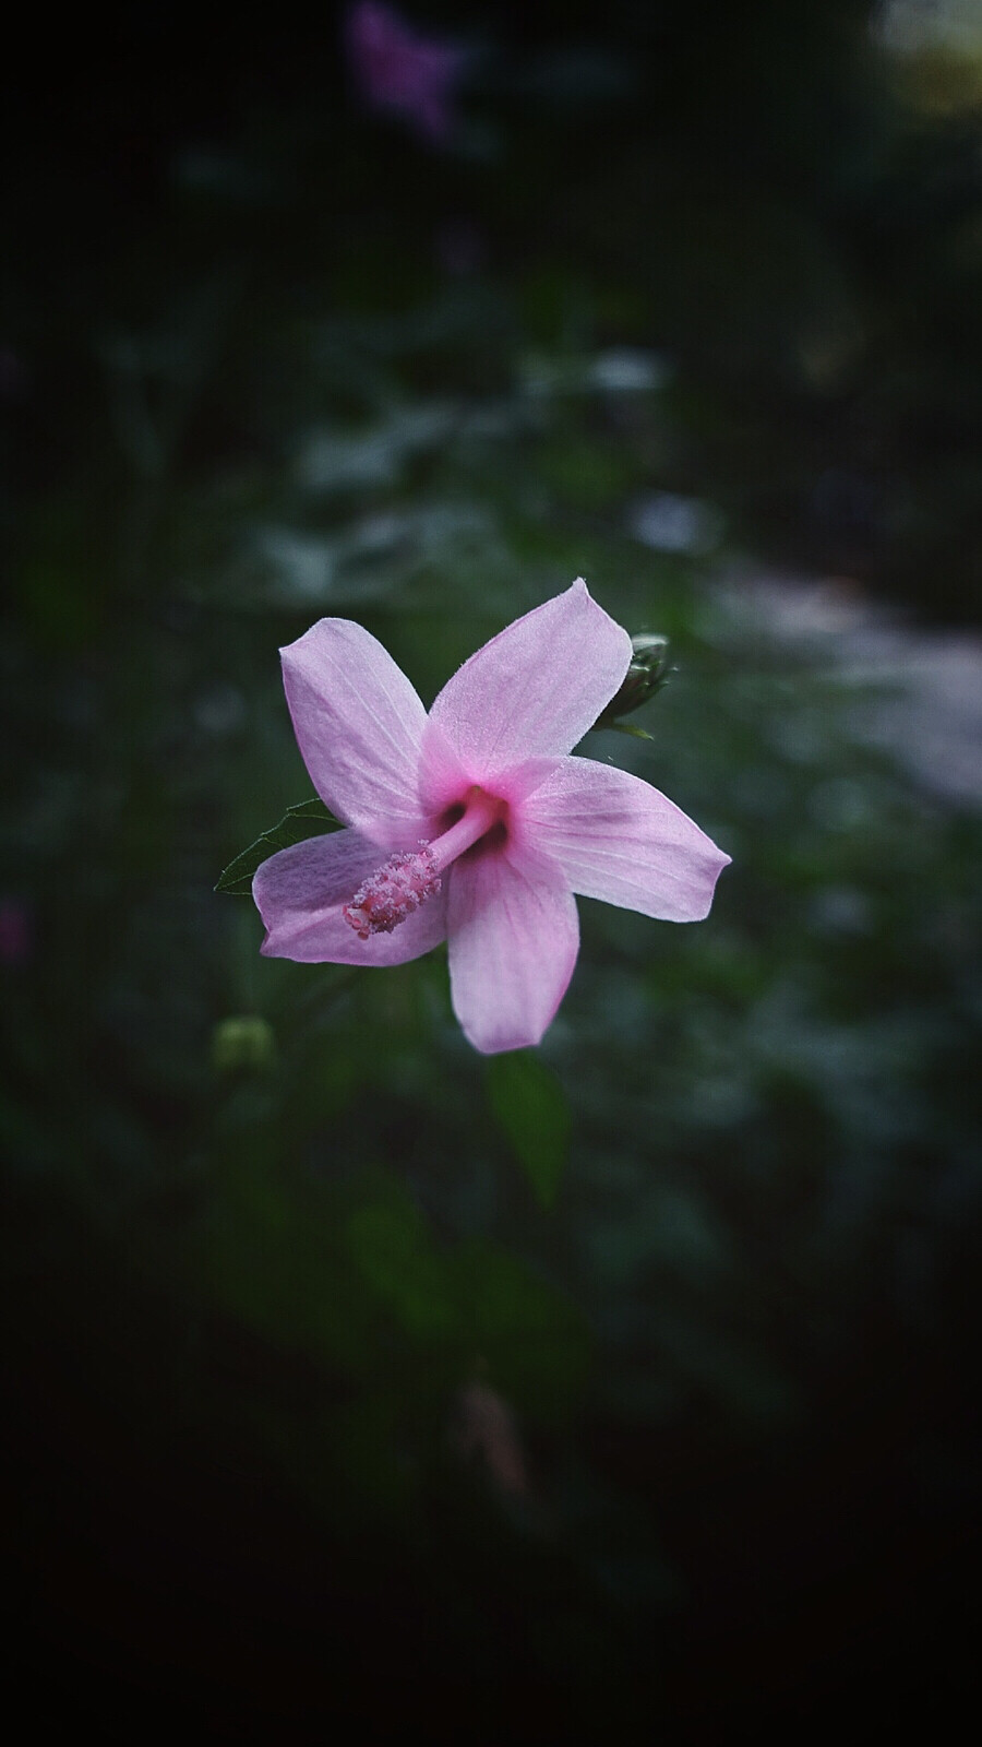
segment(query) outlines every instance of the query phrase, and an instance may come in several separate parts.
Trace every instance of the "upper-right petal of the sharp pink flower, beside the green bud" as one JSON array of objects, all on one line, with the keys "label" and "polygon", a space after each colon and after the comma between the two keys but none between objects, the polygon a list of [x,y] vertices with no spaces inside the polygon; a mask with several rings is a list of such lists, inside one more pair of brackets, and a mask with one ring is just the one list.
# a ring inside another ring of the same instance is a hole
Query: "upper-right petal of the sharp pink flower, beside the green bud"
[{"label": "upper-right petal of the sharp pink flower, beside the green bud", "polygon": [[472,783],[538,755],[568,753],[610,704],[631,638],[578,578],[477,650],[437,697],[430,722]]}]

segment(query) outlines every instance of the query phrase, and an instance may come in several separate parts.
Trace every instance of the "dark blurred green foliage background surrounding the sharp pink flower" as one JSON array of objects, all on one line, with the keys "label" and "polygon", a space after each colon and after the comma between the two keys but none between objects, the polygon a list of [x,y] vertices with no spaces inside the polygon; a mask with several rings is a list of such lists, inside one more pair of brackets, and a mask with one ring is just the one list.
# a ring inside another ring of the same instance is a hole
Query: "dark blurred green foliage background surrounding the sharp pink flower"
[{"label": "dark blurred green foliage background surrounding the sharp pink flower", "polygon": [[[341,14],[115,7],[10,66],[40,1724],[702,1742],[965,1684],[979,814],[757,589],[977,660],[982,47],[924,16],[426,7],[470,51],[442,145]],[[444,954],[260,961],[213,886],[309,795],[278,646],[355,617],[430,701],[575,575],[673,639],[654,741],[584,751],[732,854],[709,921],[582,901],[557,1022],[493,1062]]]}]

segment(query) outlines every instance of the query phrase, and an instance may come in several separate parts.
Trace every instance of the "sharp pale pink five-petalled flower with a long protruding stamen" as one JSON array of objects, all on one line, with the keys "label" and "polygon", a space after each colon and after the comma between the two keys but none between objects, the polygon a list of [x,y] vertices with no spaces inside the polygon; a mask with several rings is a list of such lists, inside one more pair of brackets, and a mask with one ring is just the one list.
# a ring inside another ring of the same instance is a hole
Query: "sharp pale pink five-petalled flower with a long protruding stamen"
[{"label": "sharp pale pink five-petalled flower with a long protruding stamen", "polygon": [[580,945],[575,893],[671,922],[708,914],[729,856],[648,783],[570,756],[631,660],[582,580],[477,650],[430,715],[349,618],[281,653],[301,753],[348,830],[257,870],[271,957],[404,964],[447,940],[456,1017],[494,1053],[552,1022]]}]

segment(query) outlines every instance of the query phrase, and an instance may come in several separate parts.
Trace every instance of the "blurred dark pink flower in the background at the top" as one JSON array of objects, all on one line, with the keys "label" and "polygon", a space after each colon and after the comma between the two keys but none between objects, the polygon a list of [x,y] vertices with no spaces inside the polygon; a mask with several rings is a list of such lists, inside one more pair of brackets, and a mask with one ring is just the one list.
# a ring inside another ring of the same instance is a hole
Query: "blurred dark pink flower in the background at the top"
[{"label": "blurred dark pink flower in the background at the top", "polygon": [[400,112],[437,145],[447,140],[467,49],[418,37],[391,7],[358,0],[348,12],[348,52],[374,108]]}]

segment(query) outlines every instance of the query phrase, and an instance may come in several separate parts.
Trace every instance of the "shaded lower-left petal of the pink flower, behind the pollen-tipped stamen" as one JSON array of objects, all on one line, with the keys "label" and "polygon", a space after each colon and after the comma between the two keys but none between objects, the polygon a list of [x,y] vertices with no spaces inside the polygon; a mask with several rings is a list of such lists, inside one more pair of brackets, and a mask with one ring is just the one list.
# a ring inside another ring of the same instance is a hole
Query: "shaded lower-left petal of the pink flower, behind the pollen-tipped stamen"
[{"label": "shaded lower-left petal of the pink flower, behind the pollen-tipped stamen", "polygon": [[266,922],[262,952],[301,964],[405,964],[447,933],[447,894],[439,891],[391,935],[360,940],[342,915],[363,879],[384,861],[360,832],[308,837],[264,861],[252,894]]}]

